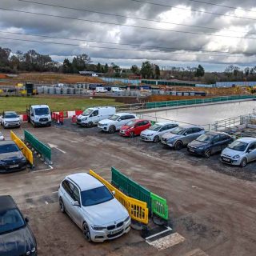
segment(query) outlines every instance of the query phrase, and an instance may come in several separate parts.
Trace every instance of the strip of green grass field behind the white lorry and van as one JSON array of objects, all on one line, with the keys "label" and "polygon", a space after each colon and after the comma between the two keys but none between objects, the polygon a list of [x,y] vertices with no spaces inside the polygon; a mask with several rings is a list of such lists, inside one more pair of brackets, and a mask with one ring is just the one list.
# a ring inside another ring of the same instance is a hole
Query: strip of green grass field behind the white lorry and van
[{"label": "strip of green grass field behind the white lorry and van", "polygon": [[26,106],[47,104],[51,111],[81,110],[90,106],[114,106],[120,103],[112,98],[72,98],[72,97],[0,97],[0,113],[14,110],[19,114],[26,112]]}]

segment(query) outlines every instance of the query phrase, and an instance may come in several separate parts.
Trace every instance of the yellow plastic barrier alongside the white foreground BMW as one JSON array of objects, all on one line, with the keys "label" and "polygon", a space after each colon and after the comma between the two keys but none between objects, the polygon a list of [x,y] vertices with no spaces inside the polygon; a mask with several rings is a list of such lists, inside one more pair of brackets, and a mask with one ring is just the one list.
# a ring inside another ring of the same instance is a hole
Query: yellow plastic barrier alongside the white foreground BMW
[{"label": "yellow plastic barrier alongside the white foreground BMW", "polygon": [[110,182],[107,182],[104,178],[94,173],[93,170],[90,170],[90,175],[94,176],[94,178],[97,178],[110,191],[115,192],[114,197],[117,198],[117,200],[121,202],[123,206],[126,207],[126,210],[128,210],[128,213],[130,214],[130,218],[138,222],[142,222],[144,224],[147,224],[149,222],[149,210],[146,207],[146,202],[142,202],[137,199],[127,197],[121,191],[112,186]]}]

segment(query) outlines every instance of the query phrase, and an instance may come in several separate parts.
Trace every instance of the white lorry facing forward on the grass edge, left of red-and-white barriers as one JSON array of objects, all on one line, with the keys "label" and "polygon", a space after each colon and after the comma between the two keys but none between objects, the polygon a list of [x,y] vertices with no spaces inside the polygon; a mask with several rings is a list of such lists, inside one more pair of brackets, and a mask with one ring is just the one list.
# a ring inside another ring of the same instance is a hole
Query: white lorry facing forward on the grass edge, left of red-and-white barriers
[{"label": "white lorry facing forward on the grass edge, left of red-and-white barriers", "polygon": [[26,109],[28,122],[34,127],[51,126],[50,107],[47,105],[33,105]]}]

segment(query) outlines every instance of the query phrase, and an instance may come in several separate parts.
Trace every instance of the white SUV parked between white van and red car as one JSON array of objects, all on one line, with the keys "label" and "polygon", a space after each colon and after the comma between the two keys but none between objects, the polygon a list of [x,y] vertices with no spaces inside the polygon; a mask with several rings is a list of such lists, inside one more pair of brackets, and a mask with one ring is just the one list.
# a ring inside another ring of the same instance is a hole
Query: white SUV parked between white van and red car
[{"label": "white SUV parked between white van and red car", "polygon": [[108,119],[98,122],[98,128],[103,131],[108,131],[110,134],[114,134],[116,130],[120,130],[127,122],[134,119],[137,119],[136,114],[117,113]]}]

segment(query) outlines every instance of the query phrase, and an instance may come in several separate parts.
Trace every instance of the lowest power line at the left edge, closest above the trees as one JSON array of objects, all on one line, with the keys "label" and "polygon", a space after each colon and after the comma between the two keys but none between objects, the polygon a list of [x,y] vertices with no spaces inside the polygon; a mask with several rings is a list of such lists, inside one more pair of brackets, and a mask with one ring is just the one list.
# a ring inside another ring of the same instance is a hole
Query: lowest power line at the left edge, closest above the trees
[{"label": "lowest power line at the left edge, closest above the trees", "polygon": [[[127,51],[141,51],[141,52],[147,52],[147,53],[158,53],[158,54],[166,54],[164,52],[160,52],[158,50],[140,50],[140,49],[129,49],[129,48],[117,48],[117,47],[107,47],[107,46],[82,46],[80,44],[73,44],[73,43],[66,43],[66,42],[49,42],[49,41],[41,41],[41,40],[31,40],[31,39],[22,39],[22,38],[4,38],[0,37],[0,39],[5,40],[13,40],[13,41],[22,41],[22,42],[40,42],[40,43],[49,43],[54,45],[63,45],[63,46],[80,46],[83,48],[89,47],[89,48],[96,48],[96,49],[106,49],[106,50],[127,50]],[[223,54],[193,54],[193,53],[174,53],[171,52],[170,54],[181,54],[181,55],[195,55],[195,56],[211,56],[211,57],[229,57],[229,58],[240,58],[242,56],[226,56]],[[254,56],[250,56],[254,57]]]}]

